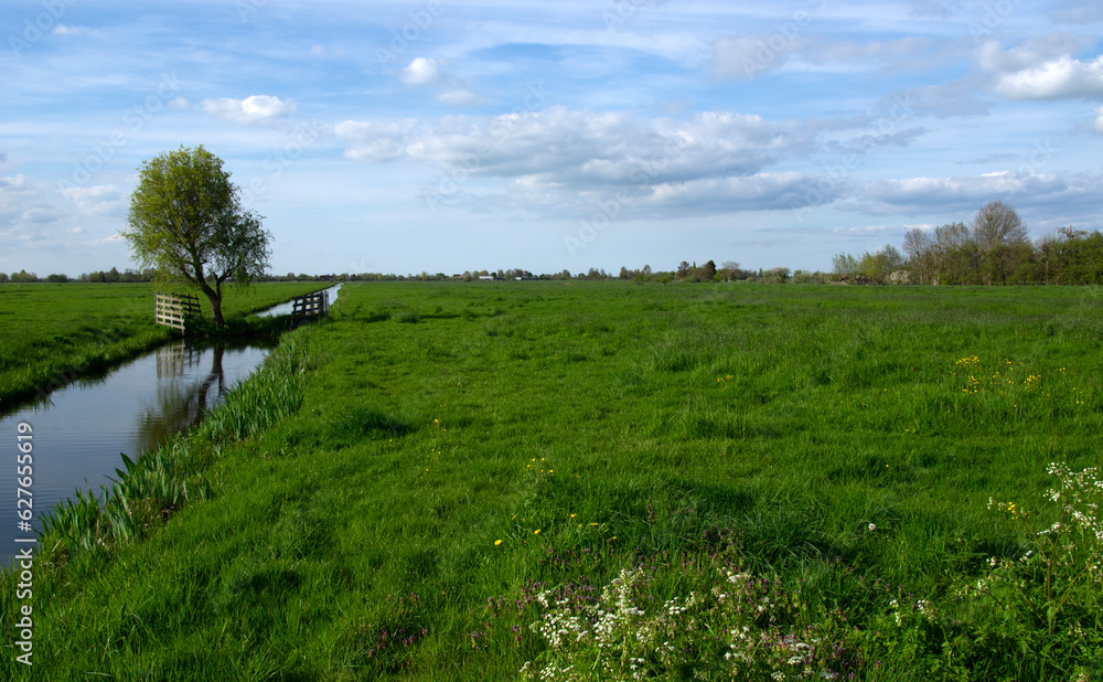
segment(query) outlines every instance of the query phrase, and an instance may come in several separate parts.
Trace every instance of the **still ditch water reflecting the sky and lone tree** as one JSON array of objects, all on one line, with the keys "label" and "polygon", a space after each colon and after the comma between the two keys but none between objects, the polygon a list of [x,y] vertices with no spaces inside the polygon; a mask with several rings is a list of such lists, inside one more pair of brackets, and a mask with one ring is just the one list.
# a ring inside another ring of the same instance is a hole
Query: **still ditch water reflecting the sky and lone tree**
[{"label": "still ditch water reflecting the sky and lone tree", "polygon": [[[330,305],[336,300],[336,289],[329,290]],[[261,315],[290,315],[290,306]],[[108,477],[116,476],[115,469],[125,469],[120,452],[138,459],[142,451],[199,424],[253,373],[270,348],[255,340],[228,345],[175,341],[0,417],[0,452],[9,454],[0,462],[0,566],[28,546],[17,537],[34,537],[20,529],[17,515],[26,504],[17,503],[20,443],[32,446],[30,523],[40,531],[42,518],[74,497],[77,488],[103,494],[100,487],[110,486]],[[30,425],[32,430],[24,436],[31,438],[19,440],[20,424]]]}]

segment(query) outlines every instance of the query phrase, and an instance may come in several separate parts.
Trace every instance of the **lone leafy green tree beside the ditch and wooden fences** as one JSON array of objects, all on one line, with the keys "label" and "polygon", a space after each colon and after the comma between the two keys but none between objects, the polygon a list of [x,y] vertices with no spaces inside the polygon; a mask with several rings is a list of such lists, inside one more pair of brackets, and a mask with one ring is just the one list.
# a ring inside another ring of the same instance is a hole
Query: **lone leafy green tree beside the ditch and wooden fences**
[{"label": "lone leafy green tree beside the ditch and wooden fences", "polygon": [[122,232],[141,267],[156,268],[161,281],[202,291],[217,327],[222,285],[248,286],[264,275],[272,241],[261,216],[243,209],[240,190],[222,164],[202,145],[143,161]]}]

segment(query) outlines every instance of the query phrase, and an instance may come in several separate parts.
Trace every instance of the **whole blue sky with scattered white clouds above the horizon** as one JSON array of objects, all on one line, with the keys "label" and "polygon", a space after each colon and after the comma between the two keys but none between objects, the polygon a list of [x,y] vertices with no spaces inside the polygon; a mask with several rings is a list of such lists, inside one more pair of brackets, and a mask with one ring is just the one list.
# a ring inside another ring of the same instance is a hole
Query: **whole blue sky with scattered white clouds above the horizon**
[{"label": "whole blue sky with scattered white clouds above the horizon", "polygon": [[0,270],[135,267],[218,156],[274,274],[828,270],[1015,207],[1103,227],[1099,0],[6,1]]}]

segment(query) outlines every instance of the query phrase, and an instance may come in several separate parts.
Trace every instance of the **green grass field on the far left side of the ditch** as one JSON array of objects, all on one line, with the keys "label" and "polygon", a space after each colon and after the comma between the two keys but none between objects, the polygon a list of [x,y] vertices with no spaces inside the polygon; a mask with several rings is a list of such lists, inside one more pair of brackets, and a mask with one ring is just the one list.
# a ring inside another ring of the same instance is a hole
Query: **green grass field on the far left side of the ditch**
[{"label": "green grass field on the far left side of the ditch", "polygon": [[[223,313],[229,320],[325,286],[229,287]],[[43,386],[107,367],[170,339],[173,332],[153,322],[153,291],[151,284],[0,285],[0,413]],[[210,317],[207,301],[200,303]]]}]

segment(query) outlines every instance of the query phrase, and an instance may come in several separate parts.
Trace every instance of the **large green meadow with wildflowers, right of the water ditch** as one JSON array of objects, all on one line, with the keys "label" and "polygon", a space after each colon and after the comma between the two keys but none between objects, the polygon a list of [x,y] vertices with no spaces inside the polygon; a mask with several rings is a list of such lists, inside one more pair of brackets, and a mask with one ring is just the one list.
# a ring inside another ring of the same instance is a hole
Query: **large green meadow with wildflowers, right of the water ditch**
[{"label": "large green meadow with wildflowers, right of the water ditch", "polygon": [[35,679],[1100,680],[1101,341],[1097,288],[345,285],[161,454],[195,501],[47,536]]}]

